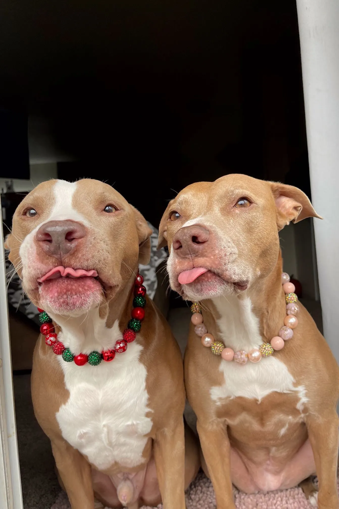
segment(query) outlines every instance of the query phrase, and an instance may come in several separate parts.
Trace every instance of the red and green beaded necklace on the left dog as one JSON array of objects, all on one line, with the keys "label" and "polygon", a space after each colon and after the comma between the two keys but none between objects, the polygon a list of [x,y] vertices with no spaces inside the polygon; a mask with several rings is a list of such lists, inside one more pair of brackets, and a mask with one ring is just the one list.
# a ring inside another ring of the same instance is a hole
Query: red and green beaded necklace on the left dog
[{"label": "red and green beaded necklace on the left dog", "polygon": [[138,273],[134,283],[134,299],[132,318],[128,322],[127,329],[123,332],[123,339],[118,340],[115,346],[110,350],[104,350],[101,353],[94,351],[89,355],[80,353],[79,355],[73,355],[69,348],[65,348],[61,341],[58,341],[58,335],[55,333],[52,319],[47,313],[38,307],[40,313],[39,320],[42,324],[40,332],[45,336],[46,345],[52,347],[53,352],[56,355],[62,355],[65,362],[75,362],[78,366],[83,366],[89,363],[91,366],[97,366],[102,360],[109,362],[113,360],[116,353],[123,353],[127,350],[127,344],[132,343],[135,340],[136,332],[139,332],[142,326],[142,321],[145,318],[146,306],[146,288],[143,286],[144,278]]}]

